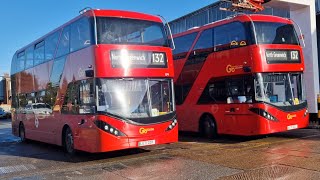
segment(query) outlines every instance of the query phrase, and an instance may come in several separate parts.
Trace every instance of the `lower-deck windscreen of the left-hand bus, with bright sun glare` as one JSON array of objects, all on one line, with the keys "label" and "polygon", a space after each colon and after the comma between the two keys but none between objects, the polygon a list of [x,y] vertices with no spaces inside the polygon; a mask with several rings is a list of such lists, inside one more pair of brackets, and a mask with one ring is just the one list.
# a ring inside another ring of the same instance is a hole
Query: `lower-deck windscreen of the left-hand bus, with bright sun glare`
[{"label": "lower-deck windscreen of the left-hand bus, with bright sun glare", "polygon": [[174,112],[172,80],[97,79],[97,109],[124,118],[148,118]]}]

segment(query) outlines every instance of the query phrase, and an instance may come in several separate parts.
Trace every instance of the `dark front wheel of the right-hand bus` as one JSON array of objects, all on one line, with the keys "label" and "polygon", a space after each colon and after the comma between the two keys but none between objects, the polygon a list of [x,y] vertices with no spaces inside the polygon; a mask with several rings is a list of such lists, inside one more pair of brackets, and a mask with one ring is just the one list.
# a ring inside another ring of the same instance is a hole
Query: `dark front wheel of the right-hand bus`
[{"label": "dark front wheel of the right-hand bus", "polygon": [[217,126],[211,116],[205,115],[201,119],[200,131],[204,137],[209,139],[215,138],[217,136]]}]

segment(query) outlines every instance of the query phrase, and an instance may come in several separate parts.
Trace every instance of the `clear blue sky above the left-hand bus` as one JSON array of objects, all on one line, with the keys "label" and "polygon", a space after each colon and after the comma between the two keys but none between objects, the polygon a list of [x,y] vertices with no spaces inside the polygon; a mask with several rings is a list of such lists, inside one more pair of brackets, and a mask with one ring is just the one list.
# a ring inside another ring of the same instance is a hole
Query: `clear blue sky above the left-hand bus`
[{"label": "clear blue sky above the left-hand bus", "polygon": [[168,21],[216,0],[1,0],[0,75],[10,72],[14,52],[76,17],[80,9],[120,9],[161,14]]}]

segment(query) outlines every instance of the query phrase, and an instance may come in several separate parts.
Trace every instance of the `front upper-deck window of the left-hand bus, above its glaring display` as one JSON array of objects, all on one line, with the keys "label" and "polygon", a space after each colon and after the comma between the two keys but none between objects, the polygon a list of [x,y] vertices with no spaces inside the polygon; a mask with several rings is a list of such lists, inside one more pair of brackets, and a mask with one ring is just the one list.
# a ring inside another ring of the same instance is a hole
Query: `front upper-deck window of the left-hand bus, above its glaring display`
[{"label": "front upper-deck window of the left-hand bus, above its glaring display", "polygon": [[97,28],[99,44],[169,46],[162,23],[98,17]]}]

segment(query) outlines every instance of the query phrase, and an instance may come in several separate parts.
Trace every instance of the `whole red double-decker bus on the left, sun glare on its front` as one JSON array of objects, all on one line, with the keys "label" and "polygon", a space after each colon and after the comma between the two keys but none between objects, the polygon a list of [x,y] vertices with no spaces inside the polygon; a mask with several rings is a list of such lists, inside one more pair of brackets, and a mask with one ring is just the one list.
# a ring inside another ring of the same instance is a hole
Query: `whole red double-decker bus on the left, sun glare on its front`
[{"label": "whole red double-decker bus on the left, sun glare on its front", "polygon": [[168,35],[157,16],[87,10],[18,50],[13,134],[69,153],[176,142]]}]

